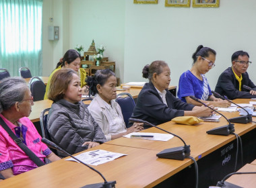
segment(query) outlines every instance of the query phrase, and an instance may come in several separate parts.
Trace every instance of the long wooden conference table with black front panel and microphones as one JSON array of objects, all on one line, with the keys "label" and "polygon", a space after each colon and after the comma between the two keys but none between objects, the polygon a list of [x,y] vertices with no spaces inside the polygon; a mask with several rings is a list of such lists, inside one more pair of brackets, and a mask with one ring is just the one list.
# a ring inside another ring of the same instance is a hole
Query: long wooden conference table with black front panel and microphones
[{"label": "long wooden conference table with black front panel and microphones", "polygon": [[[235,101],[237,103],[249,103],[249,99],[237,99]],[[238,112],[223,112],[223,114],[227,118],[238,116]],[[253,118],[253,121],[255,120],[256,118]],[[197,160],[199,166],[199,187],[206,187],[205,184],[209,186],[209,183],[210,185],[216,185],[217,181],[220,181],[226,174],[234,171],[227,169],[228,165],[232,166],[232,168],[234,166],[231,161],[234,158],[233,153],[236,148],[234,142],[236,137],[234,135],[216,136],[206,134],[207,130],[226,124],[226,120],[220,118],[219,123],[201,122],[194,126],[186,126],[175,124],[174,122],[166,122],[159,126],[181,136],[191,146],[191,156]],[[245,153],[254,160],[256,152],[254,148],[248,149],[246,146],[248,142],[248,145],[251,145],[251,142],[255,143],[255,140],[251,140],[251,138],[255,137],[256,125],[255,123],[234,124],[234,128],[235,133],[241,136],[243,140],[245,163],[249,163]],[[150,128],[142,132],[163,133],[156,128]],[[194,187],[195,173],[194,169],[191,168],[194,165],[193,160],[190,158],[171,160],[156,156],[161,150],[176,146],[183,146],[183,142],[176,137],[167,142],[122,137],[105,142],[90,150],[102,149],[127,154],[127,156],[94,166],[106,177],[107,181],[117,181],[116,187]],[[217,154],[214,154],[216,152]],[[221,155],[223,152],[225,154]],[[253,152],[253,154],[249,152]],[[211,157],[212,155],[213,157]],[[229,155],[230,161],[226,160]],[[218,169],[217,172],[212,170],[214,169],[213,166],[218,166],[216,162],[222,164],[222,168]],[[212,173],[216,177],[214,180],[209,180],[212,176],[211,171],[213,171]],[[173,179],[176,179],[178,184]],[[168,182],[168,180],[171,180],[170,183],[162,184],[165,181]],[[100,176],[84,167],[84,165],[62,159],[11,179],[1,181],[0,187],[20,187],[20,183],[24,187],[82,187],[90,183],[100,182],[103,182]],[[185,185],[186,182],[189,184],[188,186]],[[200,182],[205,184],[200,185]]]}]

